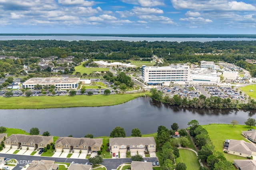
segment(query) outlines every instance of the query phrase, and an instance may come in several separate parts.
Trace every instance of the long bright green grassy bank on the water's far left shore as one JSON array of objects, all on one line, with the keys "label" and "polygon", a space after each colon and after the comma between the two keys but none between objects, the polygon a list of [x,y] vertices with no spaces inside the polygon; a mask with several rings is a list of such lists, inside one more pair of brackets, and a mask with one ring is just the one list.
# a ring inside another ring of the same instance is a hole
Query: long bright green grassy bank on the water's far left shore
[{"label": "long bright green grassy bank on the water's far left shore", "polygon": [[97,107],[113,106],[126,103],[150,92],[137,94],[115,95],[79,95],[79,96],[30,96],[30,97],[0,97],[0,109],[46,109],[64,107]]}]

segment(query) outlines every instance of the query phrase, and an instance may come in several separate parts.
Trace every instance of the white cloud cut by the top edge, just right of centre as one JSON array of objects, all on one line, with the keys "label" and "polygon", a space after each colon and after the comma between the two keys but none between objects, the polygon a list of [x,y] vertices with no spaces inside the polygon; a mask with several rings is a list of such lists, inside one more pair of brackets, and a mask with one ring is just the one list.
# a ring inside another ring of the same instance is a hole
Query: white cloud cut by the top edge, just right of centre
[{"label": "white cloud cut by the top edge, just right of centre", "polygon": [[163,0],[121,0],[127,4],[135,4],[143,7],[164,6]]}]

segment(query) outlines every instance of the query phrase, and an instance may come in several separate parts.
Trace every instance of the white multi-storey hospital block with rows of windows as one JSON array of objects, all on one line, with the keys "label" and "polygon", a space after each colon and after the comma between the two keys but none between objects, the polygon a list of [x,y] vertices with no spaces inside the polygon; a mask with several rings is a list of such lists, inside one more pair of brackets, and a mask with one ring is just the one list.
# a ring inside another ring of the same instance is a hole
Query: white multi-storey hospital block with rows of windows
[{"label": "white multi-storey hospital block with rows of windows", "polygon": [[186,82],[190,80],[190,68],[186,65],[163,67],[142,66],[142,79],[148,84]]}]

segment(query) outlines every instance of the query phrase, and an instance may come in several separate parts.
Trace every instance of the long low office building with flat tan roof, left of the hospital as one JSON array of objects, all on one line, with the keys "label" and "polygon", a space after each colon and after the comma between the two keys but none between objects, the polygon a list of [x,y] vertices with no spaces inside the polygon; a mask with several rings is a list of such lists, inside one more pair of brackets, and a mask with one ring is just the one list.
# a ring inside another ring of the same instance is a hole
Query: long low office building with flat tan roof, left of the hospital
[{"label": "long low office building with flat tan roof, left of the hospital", "polygon": [[39,85],[54,85],[60,89],[76,89],[80,78],[30,78],[22,84],[23,88],[34,89],[34,86]]}]

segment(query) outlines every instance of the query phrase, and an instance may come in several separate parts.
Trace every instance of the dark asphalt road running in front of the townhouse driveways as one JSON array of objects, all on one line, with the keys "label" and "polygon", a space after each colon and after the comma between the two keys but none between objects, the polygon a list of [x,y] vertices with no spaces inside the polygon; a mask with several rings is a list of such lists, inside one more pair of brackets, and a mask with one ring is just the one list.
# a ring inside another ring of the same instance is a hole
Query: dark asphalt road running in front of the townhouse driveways
[{"label": "dark asphalt road running in front of the townhouse driveways", "polygon": [[[89,162],[88,159],[72,159],[72,158],[52,158],[45,156],[26,156],[26,155],[17,155],[17,154],[0,154],[0,157],[5,157],[7,159],[16,159],[18,160],[18,165],[13,168],[13,170],[21,170],[25,164],[28,164],[32,160],[54,160],[55,162],[72,162],[79,164],[85,164]],[[157,158],[144,158],[147,162],[156,161]],[[102,165],[106,166],[107,170],[116,169],[120,164],[132,162],[130,158],[114,158],[114,159],[103,159]]]}]

